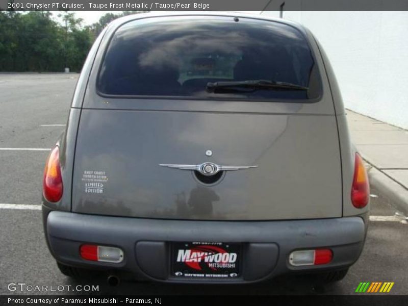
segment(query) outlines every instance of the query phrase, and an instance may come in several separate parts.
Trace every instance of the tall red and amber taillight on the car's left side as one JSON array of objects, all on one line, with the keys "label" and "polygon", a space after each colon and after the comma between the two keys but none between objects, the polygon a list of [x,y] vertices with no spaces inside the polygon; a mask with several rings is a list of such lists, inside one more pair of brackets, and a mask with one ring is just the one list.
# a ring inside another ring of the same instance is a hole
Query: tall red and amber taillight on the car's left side
[{"label": "tall red and amber taillight on the car's left side", "polygon": [[60,150],[56,146],[45,163],[42,191],[47,201],[58,202],[62,197],[62,190]]}]

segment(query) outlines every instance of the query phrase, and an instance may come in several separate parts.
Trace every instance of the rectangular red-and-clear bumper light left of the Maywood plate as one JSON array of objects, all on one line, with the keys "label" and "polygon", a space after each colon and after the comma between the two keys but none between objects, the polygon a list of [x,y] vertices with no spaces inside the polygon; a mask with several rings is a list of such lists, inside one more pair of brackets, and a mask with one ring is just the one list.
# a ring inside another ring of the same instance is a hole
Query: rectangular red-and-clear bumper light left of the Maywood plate
[{"label": "rectangular red-and-clear bumper light left of the Maywood plate", "polygon": [[85,260],[120,263],[123,261],[123,251],[118,247],[83,244],[80,247],[81,257]]}]

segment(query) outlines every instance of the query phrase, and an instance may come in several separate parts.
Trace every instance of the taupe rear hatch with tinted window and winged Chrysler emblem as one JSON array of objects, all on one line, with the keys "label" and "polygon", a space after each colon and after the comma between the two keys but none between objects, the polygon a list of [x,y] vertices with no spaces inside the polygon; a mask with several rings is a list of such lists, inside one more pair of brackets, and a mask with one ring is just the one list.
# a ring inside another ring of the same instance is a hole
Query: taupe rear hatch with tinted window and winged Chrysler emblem
[{"label": "taupe rear hatch with tinted window and winged Chrysler emblem", "polygon": [[[340,217],[333,101],[305,34],[246,18],[148,19],[120,27],[101,45],[106,55],[96,57],[77,136],[72,211],[194,220]],[[239,83],[248,80],[307,89]],[[226,81],[236,84],[207,88]],[[180,169],[203,163],[257,167],[217,176]]]}]

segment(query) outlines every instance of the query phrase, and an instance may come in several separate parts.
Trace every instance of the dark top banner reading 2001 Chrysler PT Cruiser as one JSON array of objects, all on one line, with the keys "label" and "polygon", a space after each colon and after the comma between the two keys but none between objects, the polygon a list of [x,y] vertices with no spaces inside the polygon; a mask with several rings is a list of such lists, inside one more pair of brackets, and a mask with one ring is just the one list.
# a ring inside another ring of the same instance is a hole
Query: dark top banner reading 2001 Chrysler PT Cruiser
[{"label": "dark top banner reading 2001 Chrysler PT Cruiser", "polygon": [[408,11],[407,0],[0,0],[15,11]]}]

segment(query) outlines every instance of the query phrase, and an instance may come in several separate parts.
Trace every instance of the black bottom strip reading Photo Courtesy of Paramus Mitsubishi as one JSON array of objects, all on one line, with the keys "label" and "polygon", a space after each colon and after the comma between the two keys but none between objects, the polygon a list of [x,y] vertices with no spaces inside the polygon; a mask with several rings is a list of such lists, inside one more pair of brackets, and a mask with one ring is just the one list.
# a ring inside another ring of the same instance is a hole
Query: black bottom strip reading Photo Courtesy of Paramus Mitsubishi
[{"label": "black bottom strip reading Photo Courtesy of Paramus Mitsubishi", "polygon": [[408,305],[408,296],[74,296],[74,295],[3,295],[0,305],[296,305],[296,306],[399,306]]}]

